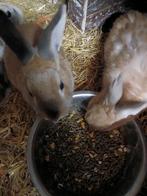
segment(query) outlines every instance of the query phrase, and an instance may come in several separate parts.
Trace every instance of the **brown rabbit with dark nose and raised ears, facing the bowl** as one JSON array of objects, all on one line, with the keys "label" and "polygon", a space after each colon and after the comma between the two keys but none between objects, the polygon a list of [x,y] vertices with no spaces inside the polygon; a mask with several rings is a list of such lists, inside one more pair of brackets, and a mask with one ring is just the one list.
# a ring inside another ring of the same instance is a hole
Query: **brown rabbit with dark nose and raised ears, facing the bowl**
[{"label": "brown rabbit with dark nose and raised ears, facing the bowl", "polygon": [[16,26],[0,12],[8,79],[37,115],[53,122],[69,111],[74,89],[70,64],[60,51],[66,12],[62,4],[45,29],[35,23]]}]

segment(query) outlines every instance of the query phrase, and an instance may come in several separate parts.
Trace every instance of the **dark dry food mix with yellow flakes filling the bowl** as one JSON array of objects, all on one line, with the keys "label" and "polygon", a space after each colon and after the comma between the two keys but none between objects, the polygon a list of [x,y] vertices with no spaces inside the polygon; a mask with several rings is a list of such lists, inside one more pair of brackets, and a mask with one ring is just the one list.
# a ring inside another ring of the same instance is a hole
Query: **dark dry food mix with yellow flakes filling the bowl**
[{"label": "dark dry food mix with yellow flakes filling the bowl", "polygon": [[37,146],[37,164],[46,186],[63,195],[103,192],[121,175],[129,152],[119,130],[94,130],[78,112],[44,130]]}]

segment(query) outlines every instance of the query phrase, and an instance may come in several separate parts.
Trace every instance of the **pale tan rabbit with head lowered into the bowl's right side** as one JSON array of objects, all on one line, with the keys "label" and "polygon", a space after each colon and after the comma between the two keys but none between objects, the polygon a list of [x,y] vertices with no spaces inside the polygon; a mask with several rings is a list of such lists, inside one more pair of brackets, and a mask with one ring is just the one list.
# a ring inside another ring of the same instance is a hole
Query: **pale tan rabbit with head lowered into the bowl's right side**
[{"label": "pale tan rabbit with head lowered into the bowl's right side", "polygon": [[120,16],[104,44],[103,88],[87,106],[85,119],[99,130],[112,130],[147,107],[147,15]]}]

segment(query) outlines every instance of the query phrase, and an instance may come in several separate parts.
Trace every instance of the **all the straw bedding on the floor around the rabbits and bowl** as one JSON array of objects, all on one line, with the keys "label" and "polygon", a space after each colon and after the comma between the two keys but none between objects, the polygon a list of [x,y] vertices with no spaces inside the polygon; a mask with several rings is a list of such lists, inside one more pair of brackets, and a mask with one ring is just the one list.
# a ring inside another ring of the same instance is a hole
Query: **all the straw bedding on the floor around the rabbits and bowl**
[{"label": "all the straw bedding on the floor around the rabbits and bowl", "polygon": [[[0,1],[1,2],[1,1]],[[7,2],[7,1],[6,1]],[[48,0],[11,0],[23,9],[27,21],[47,24],[55,13]],[[100,30],[85,34],[67,22],[63,48],[72,64],[76,89],[100,90],[103,61],[103,38]],[[147,112],[139,117],[147,134]],[[34,121],[34,112],[23,101],[19,92],[12,90],[0,106],[0,196],[37,196],[26,166],[26,143]]]}]

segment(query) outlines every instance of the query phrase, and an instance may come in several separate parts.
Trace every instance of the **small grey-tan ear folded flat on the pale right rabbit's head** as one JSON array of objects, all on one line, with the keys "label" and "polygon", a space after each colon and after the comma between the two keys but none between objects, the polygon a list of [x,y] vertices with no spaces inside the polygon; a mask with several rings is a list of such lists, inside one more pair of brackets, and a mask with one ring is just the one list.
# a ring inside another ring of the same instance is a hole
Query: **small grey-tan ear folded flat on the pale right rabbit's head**
[{"label": "small grey-tan ear folded flat on the pale right rabbit's head", "polygon": [[111,105],[116,105],[123,94],[123,80],[121,74],[112,82],[109,87],[108,101]]}]

